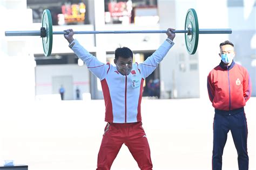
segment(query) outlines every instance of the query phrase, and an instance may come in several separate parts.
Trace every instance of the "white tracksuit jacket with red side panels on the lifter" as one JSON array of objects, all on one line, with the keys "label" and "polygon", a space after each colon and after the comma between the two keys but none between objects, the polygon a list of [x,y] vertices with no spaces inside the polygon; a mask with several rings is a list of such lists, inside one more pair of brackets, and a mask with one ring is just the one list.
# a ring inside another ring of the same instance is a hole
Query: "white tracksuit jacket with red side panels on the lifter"
[{"label": "white tracksuit jacket with red side panels on the lifter", "polygon": [[140,103],[142,101],[143,82],[174,45],[170,39],[164,43],[143,63],[133,63],[129,75],[122,75],[117,67],[102,63],[73,40],[69,47],[82,59],[90,71],[102,84],[105,100],[105,121],[110,123],[133,123],[142,121]]}]

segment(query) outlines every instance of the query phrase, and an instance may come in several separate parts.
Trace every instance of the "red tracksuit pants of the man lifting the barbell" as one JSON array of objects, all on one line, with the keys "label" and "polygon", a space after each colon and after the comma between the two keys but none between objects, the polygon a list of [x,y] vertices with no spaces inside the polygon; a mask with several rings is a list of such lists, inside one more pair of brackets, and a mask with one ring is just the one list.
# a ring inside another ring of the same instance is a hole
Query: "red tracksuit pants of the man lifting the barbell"
[{"label": "red tracksuit pants of the man lifting the barbell", "polygon": [[97,170],[110,169],[123,144],[129,148],[140,169],[152,169],[150,147],[142,122],[136,122],[107,123],[98,153]]}]

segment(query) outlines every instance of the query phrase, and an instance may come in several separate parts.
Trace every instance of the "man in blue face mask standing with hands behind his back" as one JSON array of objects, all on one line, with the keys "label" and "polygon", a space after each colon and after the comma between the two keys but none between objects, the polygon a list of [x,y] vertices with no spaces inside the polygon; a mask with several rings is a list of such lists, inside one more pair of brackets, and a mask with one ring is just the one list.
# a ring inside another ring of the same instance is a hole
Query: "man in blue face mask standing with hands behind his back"
[{"label": "man in blue face mask standing with hands behind his back", "polygon": [[208,95],[215,108],[213,122],[212,169],[221,170],[222,155],[231,131],[238,153],[239,170],[248,170],[247,122],[245,103],[251,97],[251,81],[246,68],[233,61],[234,45],[220,44],[220,64],[207,77]]}]

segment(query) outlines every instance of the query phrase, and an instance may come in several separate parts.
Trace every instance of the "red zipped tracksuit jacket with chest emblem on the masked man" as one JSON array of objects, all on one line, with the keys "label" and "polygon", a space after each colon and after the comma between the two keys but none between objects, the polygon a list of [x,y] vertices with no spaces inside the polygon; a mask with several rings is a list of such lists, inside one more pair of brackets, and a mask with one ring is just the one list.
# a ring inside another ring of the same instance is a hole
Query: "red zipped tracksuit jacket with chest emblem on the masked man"
[{"label": "red zipped tracksuit jacket with chest emblem on the masked man", "polygon": [[247,70],[235,63],[211,70],[207,77],[208,95],[215,109],[234,110],[245,106],[251,97],[251,81]]}]

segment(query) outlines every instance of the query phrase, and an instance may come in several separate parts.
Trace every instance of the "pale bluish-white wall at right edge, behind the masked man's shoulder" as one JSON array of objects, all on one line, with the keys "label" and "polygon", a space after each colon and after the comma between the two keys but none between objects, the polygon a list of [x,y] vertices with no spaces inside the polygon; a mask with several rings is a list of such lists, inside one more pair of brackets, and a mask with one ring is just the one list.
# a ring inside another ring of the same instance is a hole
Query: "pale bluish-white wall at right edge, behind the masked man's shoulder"
[{"label": "pale bluish-white wall at right edge, behind the masked man's shoulder", "polygon": [[256,6],[247,6],[246,2],[250,1],[245,1],[244,6],[228,9],[230,17],[237,13],[234,19],[228,20],[228,24],[233,28],[230,40],[237,52],[234,60],[247,68],[252,82],[252,95],[256,96]]}]

